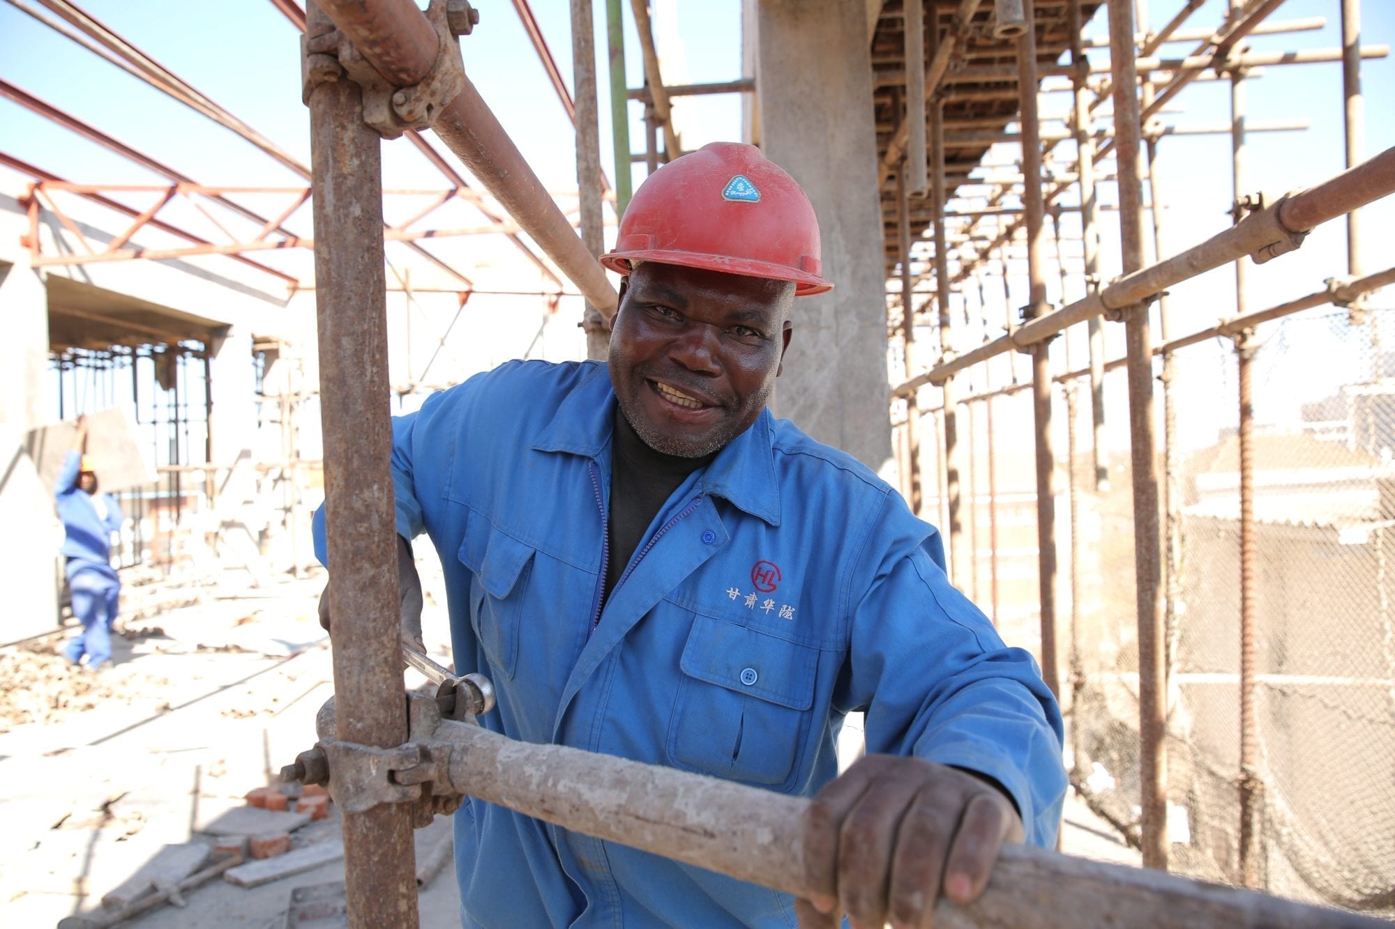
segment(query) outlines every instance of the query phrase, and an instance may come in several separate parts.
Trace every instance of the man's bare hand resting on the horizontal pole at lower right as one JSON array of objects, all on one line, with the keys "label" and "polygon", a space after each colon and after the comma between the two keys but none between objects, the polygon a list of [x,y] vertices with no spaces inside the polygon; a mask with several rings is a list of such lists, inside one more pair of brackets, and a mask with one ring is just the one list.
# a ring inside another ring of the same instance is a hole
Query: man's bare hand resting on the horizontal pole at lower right
[{"label": "man's bare hand resting on the horizontal pole at lower right", "polygon": [[992,784],[917,757],[869,755],[809,803],[804,861],[816,887],[837,898],[795,901],[804,929],[930,926],[939,894],[978,898],[1004,841],[1023,822]]}]

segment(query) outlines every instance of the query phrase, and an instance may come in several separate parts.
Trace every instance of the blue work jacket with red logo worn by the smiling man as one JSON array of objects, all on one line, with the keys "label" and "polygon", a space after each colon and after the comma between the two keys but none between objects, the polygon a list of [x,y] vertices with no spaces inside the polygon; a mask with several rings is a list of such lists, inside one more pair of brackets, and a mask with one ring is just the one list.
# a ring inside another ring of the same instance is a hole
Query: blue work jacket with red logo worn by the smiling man
[{"label": "blue work jacket with red logo worn by the smiling man", "polygon": [[[674,491],[601,608],[614,411],[604,364],[525,361],[393,420],[398,531],[441,554],[455,670],[498,693],[485,727],[812,795],[864,710],[869,752],[988,774],[1055,843],[1060,714],[1031,656],[894,490],[769,410]],[[795,925],[787,894],[480,801],[455,843],[466,926]]]}]

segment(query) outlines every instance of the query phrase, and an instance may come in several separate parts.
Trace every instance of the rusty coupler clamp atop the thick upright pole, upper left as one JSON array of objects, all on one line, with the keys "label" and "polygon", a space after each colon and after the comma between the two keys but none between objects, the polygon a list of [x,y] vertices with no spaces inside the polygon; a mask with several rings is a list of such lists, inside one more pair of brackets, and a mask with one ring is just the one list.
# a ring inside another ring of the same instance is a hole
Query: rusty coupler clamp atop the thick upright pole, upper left
[{"label": "rusty coupler clamp atop the thick upright pole, upper left", "polygon": [[469,35],[480,11],[467,0],[431,0],[423,11],[437,33],[437,57],[427,77],[414,86],[393,86],[339,29],[300,38],[300,99],[310,103],[321,84],[347,75],[363,89],[363,121],[384,138],[407,130],[428,128],[465,89],[460,35]]}]

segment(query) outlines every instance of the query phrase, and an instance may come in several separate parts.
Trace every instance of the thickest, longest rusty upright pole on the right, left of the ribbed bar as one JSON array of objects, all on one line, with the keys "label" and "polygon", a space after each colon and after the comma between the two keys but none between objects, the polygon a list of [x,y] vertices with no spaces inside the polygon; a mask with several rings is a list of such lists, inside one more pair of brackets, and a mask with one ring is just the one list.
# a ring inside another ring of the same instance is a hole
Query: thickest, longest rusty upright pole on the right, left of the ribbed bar
[{"label": "thickest, longest rusty upright pole on the right, left of the ribbed bar", "polygon": [[[1131,3],[1109,4],[1119,233],[1123,271],[1143,266],[1143,181],[1138,170],[1138,70]],[[1143,863],[1168,866],[1168,706],[1163,690],[1162,603],[1158,584],[1158,460],[1152,410],[1152,333],[1148,307],[1127,311],[1129,437],[1133,467],[1134,577],[1138,611],[1138,767]]]}]

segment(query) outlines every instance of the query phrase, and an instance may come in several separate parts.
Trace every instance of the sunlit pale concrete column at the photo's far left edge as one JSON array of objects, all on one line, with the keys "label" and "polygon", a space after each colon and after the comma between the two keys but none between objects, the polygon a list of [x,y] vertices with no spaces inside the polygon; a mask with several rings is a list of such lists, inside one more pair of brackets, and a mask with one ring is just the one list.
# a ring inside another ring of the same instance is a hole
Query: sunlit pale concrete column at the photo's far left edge
[{"label": "sunlit pale concrete column at the photo's far left edge", "polygon": [[[59,622],[57,561],[63,529],[53,488],[25,452],[27,432],[56,420],[50,406],[49,297],[25,262],[0,261],[0,584],[6,590],[0,643],[49,632]],[[49,580],[43,580],[49,579]]]}]

